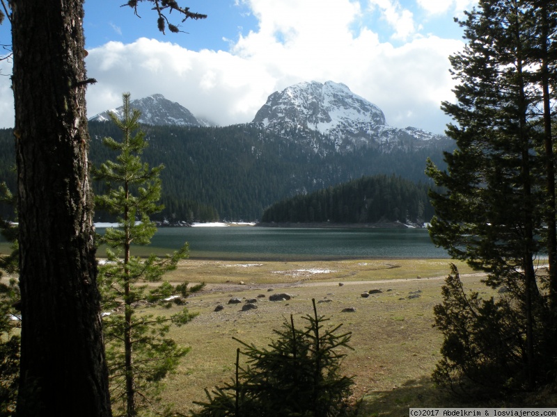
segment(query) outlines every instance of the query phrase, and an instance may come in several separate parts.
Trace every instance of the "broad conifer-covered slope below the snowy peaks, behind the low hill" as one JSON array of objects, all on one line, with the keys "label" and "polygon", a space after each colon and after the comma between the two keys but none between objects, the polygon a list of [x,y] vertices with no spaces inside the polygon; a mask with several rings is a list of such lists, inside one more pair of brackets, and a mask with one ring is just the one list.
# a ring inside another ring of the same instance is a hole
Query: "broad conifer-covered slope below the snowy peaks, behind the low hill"
[{"label": "broad conifer-covered slope below the snowy peaks, behind the low hill", "polygon": [[[155,220],[171,221],[260,220],[265,208],[281,199],[373,174],[425,182],[426,158],[442,167],[442,152],[454,146],[448,139],[422,142],[419,147],[390,142],[341,153],[327,136],[292,126],[280,131],[258,124],[143,130],[149,141],[143,160],[166,166],[161,175],[166,208]],[[102,138],[120,139],[116,126],[90,122],[89,131],[93,164],[114,158]],[[15,190],[13,140],[10,129],[0,129],[0,181],[11,190]],[[99,192],[103,184],[93,186]],[[97,213],[95,220],[110,219]]]}]

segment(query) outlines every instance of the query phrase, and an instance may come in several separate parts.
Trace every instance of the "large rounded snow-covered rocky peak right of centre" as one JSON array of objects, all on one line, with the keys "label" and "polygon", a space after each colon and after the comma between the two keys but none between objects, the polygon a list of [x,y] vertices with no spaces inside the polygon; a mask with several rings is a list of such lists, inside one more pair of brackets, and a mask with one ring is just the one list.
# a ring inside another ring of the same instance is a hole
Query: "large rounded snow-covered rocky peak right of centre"
[{"label": "large rounded snow-covered rocky peak right of centre", "polygon": [[388,126],[379,107],[354,94],[346,85],[333,81],[304,82],[274,92],[253,123],[275,130],[295,126],[319,131],[329,136],[340,150],[362,145],[395,145],[395,142],[409,145],[407,142],[444,138],[415,127]]}]

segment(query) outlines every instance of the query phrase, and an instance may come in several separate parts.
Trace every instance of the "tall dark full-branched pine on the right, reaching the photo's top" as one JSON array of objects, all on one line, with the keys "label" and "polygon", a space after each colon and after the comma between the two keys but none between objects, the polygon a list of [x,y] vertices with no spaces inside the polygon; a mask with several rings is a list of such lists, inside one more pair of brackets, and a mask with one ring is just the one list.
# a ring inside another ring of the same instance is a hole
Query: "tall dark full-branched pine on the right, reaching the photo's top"
[{"label": "tall dark full-branched pine on the right, reaching the photo's top", "polygon": [[[483,0],[478,9],[466,13],[460,24],[469,42],[464,51],[450,57],[455,79],[460,81],[454,90],[457,103],[443,104],[455,120],[447,133],[457,141],[458,149],[445,155],[447,171],[432,163],[427,167],[436,185],[445,189],[430,194],[436,213],[430,228],[434,243],[445,247],[453,258],[487,272],[488,286],[509,289],[501,302],[480,303],[473,309],[466,297],[445,290],[449,297],[445,304],[474,311],[466,326],[495,328],[502,321],[510,325],[501,325],[501,331],[507,332],[501,336],[505,343],[498,345],[503,352],[476,340],[475,348],[484,350],[469,355],[459,351],[463,355],[459,360],[455,359],[457,350],[445,354],[441,368],[447,372],[438,370],[437,379],[440,375],[451,381],[472,378],[481,384],[480,379],[487,381],[499,374],[499,383],[489,386],[494,391],[532,389],[547,382],[548,374],[540,372],[542,366],[556,367],[547,294],[541,291],[534,268],[535,259],[547,250],[538,236],[547,234],[544,189],[548,181],[554,181],[547,178],[549,168],[541,168],[546,156],[540,151],[543,129],[539,129],[538,106],[542,100],[533,54],[534,12],[532,1]],[[442,319],[444,352],[459,338],[465,345],[457,316],[444,314]],[[478,334],[485,337],[484,342],[493,336]],[[506,359],[500,361],[502,357]],[[509,358],[513,359],[509,362]],[[449,372],[455,369],[458,372]]]}]

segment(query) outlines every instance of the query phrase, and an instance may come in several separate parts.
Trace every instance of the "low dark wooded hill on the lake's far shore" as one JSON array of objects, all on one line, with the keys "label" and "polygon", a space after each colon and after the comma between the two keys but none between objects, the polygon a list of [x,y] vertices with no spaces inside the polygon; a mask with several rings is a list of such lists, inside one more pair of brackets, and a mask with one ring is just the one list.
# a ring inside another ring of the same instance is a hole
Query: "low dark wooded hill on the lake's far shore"
[{"label": "low dark wooded hill on the lake's far shore", "polygon": [[265,210],[262,222],[423,224],[433,215],[428,189],[395,175],[363,177],[277,202]]}]

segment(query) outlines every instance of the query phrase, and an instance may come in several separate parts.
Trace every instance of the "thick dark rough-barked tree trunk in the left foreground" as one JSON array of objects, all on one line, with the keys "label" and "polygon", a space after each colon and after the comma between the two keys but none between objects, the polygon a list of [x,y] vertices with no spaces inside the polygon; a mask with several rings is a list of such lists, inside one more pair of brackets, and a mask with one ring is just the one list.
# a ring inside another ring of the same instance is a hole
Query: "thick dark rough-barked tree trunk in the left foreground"
[{"label": "thick dark rough-barked tree trunk in the left foreground", "polygon": [[22,355],[18,416],[110,416],[82,0],[13,0]]}]

